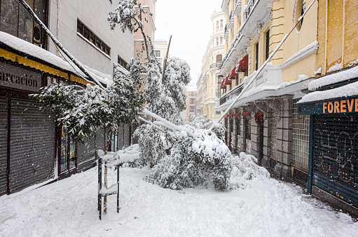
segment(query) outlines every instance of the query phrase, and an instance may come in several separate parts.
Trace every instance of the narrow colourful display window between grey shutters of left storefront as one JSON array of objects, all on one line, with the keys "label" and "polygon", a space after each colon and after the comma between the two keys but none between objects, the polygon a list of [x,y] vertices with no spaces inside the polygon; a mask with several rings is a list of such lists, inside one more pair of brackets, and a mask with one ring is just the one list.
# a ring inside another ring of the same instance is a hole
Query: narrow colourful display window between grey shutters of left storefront
[{"label": "narrow colourful display window between grey shutters of left storefront", "polygon": [[77,166],[77,145],[64,128],[61,130],[60,141],[60,174],[63,174],[65,172],[69,172]]}]

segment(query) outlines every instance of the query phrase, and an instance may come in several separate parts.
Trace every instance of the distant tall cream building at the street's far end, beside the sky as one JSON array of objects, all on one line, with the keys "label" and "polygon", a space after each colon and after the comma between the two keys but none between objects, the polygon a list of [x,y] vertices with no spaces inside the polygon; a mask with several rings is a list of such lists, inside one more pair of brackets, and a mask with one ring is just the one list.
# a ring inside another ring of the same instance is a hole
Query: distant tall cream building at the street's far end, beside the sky
[{"label": "distant tall cream building at the street's far end, beside the sky", "polygon": [[220,90],[215,72],[225,53],[225,40],[223,39],[224,13],[222,11],[213,13],[211,20],[212,35],[202,57],[202,73],[198,79],[197,88],[200,91],[198,106],[200,106],[201,114],[209,120],[216,120],[221,116],[221,111],[214,111],[213,108],[215,107],[215,100],[219,97]]}]

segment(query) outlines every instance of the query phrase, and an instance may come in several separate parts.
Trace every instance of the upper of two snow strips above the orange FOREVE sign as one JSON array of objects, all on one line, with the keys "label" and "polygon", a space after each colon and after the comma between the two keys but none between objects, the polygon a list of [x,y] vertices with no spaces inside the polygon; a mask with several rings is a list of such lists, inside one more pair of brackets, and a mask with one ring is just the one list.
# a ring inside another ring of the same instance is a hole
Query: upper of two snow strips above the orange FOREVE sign
[{"label": "upper of two snow strips above the orange FOREVE sign", "polygon": [[358,67],[352,67],[311,81],[310,84],[308,84],[308,90],[317,90],[323,86],[328,86],[340,81],[347,81],[356,77],[358,77]]}]

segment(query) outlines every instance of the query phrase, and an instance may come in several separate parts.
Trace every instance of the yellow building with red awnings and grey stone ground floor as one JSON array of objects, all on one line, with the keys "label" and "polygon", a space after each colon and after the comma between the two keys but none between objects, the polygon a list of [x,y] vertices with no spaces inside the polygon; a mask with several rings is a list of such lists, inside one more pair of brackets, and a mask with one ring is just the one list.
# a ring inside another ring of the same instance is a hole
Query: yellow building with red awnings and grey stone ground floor
[{"label": "yellow building with red awnings and grey stone ground floor", "polygon": [[278,177],[305,183],[310,120],[298,114],[296,102],[316,76],[318,1],[223,0],[221,8],[226,54],[217,72],[221,95],[214,109],[225,111],[242,93],[223,119],[226,144],[237,154],[253,154]]}]

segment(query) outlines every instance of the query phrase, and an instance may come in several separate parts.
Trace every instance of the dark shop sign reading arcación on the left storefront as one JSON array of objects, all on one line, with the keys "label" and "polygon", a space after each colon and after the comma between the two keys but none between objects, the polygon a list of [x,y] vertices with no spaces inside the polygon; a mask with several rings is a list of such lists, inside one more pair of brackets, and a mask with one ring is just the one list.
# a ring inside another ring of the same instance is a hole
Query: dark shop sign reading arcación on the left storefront
[{"label": "dark shop sign reading arcaci\u00f3n on the left storefront", "polygon": [[41,88],[41,74],[21,67],[0,62],[0,86],[38,91]]}]

